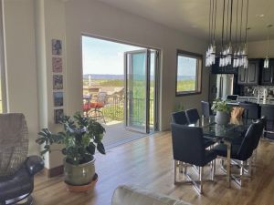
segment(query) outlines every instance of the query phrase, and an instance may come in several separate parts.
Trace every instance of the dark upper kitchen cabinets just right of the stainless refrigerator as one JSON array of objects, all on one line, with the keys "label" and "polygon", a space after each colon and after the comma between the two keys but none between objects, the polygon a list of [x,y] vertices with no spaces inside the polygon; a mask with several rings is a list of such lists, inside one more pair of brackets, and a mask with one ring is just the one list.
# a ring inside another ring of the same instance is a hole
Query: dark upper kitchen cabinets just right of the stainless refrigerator
[{"label": "dark upper kitchen cabinets just right of the stainless refrigerator", "polygon": [[239,67],[237,70],[237,84],[258,85],[259,59],[248,59],[248,68]]}]

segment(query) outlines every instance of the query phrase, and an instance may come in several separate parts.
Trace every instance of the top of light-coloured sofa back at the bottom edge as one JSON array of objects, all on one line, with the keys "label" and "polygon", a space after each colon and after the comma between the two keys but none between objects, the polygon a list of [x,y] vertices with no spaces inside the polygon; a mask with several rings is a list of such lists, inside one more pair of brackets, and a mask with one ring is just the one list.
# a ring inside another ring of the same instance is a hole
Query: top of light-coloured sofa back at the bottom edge
[{"label": "top of light-coloured sofa back at the bottom edge", "polygon": [[121,185],[114,191],[111,205],[190,205],[190,203],[174,200],[150,190]]}]

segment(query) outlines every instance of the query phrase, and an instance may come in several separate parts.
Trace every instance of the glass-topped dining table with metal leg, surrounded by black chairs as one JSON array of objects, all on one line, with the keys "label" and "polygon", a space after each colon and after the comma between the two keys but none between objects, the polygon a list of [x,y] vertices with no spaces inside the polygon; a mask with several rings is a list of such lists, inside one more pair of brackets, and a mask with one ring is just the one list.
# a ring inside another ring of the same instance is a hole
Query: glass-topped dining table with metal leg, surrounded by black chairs
[{"label": "glass-topped dining table with metal leg, surrounded by black chairs", "polygon": [[219,125],[215,122],[215,117],[201,118],[191,127],[203,128],[204,138],[209,138],[216,143],[224,143],[227,145],[227,187],[230,187],[231,181],[231,144],[233,140],[244,138],[248,127],[253,120],[246,118],[230,118],[227,125]]}]

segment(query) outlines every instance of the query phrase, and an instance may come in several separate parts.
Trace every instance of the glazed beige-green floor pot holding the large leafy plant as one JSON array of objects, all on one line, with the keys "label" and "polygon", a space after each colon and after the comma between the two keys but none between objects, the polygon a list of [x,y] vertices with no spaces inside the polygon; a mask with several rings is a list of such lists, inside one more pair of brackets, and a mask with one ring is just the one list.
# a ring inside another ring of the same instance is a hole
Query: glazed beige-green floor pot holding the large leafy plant
[{"label": "glazed beige-green floor pot holding the large leafy plant", "polygon": [[95,159],[91,161],[73,165],[64,159],[65,182],[69,185],[79,186],[89,184],[95,175]]}]

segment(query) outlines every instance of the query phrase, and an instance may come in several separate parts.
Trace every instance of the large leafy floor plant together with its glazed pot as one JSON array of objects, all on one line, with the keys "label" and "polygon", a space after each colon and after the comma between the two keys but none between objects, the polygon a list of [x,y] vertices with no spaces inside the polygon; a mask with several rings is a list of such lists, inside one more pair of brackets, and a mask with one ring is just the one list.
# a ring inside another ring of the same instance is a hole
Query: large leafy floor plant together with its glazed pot
[{"label": "large leafy floor plant together with its glazed pot", "polygon": [[94,154],[96,149],[105,154],[101,142],[105,128],[99,122],[84,117],[77,112],[71,119],[64,116],[60,120],[64,130],[57,134],[51,133],[48,128],[43,128],[39,133],[36,142],[44,145],[41,155],[51,151],[53,144],[62,144],[60,149],[64,158],[65,182],[72,186],[85,186],[94,180]]}]

